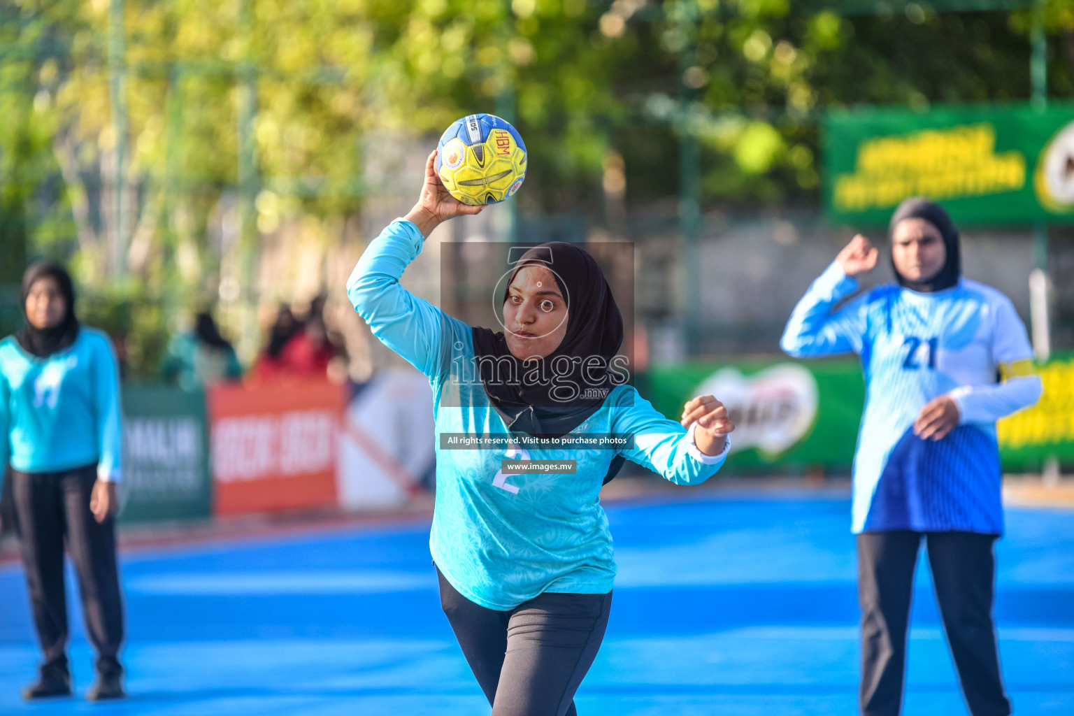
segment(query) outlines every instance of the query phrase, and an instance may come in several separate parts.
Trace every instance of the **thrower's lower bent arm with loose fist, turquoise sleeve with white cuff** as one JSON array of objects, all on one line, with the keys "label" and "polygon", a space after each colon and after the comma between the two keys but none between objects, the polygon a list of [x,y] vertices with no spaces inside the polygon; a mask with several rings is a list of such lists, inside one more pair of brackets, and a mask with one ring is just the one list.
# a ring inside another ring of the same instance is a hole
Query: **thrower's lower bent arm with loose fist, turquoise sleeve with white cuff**
[{"label": "thrower's lower bent arm with loose fist, turquoise sleeve with white cuff", "polygon": [[690,412],[684,409],[683,420],[688,422],[688,429],[658,413],[633,388],[623,391],[612,408],[612,432],[633,435],[635,444],[620,454],[679,485],[694,485],[711,478],[727,458],[730,439],[726,434],[735,426],[726,420],[726,410],[721,417],[723,406],[714,398],[711,404],[695,398],[686,406]]}]

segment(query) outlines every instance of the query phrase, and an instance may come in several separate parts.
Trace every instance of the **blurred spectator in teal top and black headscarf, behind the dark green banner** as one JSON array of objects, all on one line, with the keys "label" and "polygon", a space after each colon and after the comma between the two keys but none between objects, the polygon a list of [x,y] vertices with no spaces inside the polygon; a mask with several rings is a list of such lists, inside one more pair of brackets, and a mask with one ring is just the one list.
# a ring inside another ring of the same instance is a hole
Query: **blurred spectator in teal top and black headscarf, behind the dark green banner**
[{"label": "blurred spectator in teal top and black headscarf, behind the dark green banner", "polygon": [[164,380],[185,391],[197,391],[216,383],[238,380],[243,368],[235,349],[208,311],[198,313],[194,330],[174,336],[161,361]]}]

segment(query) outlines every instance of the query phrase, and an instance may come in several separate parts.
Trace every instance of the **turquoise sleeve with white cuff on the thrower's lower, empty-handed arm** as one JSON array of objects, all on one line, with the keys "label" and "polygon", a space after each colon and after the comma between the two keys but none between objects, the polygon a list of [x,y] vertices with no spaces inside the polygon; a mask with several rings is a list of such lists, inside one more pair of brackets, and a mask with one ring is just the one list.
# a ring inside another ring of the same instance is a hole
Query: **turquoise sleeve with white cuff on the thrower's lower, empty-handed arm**
[{"label": "turquoise sleeve with white cuff on the thrower's lower, empty-handed arm", "polygon": [[633,388],[623,391],[616,403],[612,408],[612,433],[634,436],[634,448],[619,451],[632,463],[677,485],[705,482],[724,464],[730,439],[721,454],[706,455],[694,444],[693,433],[662,415]]}]

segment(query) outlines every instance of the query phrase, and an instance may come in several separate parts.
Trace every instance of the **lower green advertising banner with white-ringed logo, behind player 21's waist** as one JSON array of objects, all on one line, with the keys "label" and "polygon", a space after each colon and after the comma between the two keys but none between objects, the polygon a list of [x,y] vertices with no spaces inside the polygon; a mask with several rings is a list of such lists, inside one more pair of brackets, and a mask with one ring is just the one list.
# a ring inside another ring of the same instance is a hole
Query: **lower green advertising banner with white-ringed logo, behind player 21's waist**
[{"label": "lower green advertising banner with white-ringed logo, behind player 21's waist", "polygon": [[[1040,403],[997,424],[1003,469],[1037,471],[1055,457],[1074,464],[1074,355],[1040,368]],[[735,423],[735,470],[850,472],[865,403],[855,359],[743,361],[662,366],[648,397],[671,420],[697,395],[715,395]]]}]

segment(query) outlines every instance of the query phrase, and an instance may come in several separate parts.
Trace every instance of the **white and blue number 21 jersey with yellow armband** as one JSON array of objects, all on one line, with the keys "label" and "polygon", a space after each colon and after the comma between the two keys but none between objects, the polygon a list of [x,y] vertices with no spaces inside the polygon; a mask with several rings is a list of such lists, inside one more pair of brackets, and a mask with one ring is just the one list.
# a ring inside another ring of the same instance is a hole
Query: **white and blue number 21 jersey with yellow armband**
[{"label": "white and blue number 21 jersey with yellow armband", "polygon": [[[796,357],[861,356],[853,531],[1002,535],[996,421],[1041,395],[1014,306],[966,278],[935,293],[884,283],[839,306],[857,290],[833,262],[798,302],[781,340]],[[945,394],[958,405],[959,425],[942,440],[918,438],[921,408]]]}]

